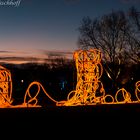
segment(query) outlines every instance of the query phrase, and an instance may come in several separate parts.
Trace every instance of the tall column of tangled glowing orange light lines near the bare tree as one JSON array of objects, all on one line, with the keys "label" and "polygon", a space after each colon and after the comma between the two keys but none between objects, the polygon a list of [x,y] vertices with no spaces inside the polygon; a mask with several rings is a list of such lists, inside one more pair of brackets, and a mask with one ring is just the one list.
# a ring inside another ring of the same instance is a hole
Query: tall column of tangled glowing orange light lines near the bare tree
[{"label": "tall column of tangled glowing orange light lines near the bare tree", "polygon": [[80,50],[74,53],[77,68],[76,90],[68,94],[67,101],[57,105],[89,105],[103,103],[105,90],[99,80],[103,68],[101,52],[96,49]]}]

